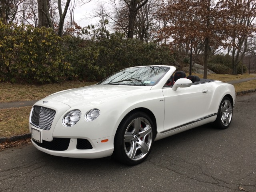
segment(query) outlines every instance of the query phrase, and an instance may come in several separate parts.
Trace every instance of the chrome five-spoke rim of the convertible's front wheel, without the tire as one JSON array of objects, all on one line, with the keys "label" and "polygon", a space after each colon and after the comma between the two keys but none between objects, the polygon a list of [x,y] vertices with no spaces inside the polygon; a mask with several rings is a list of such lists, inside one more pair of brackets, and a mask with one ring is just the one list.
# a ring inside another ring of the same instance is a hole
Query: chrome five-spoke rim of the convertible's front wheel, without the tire
[{"label": "chrome five-spoke rim of the convertible's front wheel, without the tire", "polygon": [[124,150],[130,160],[140,160],[150,150],[153,140],[152,126],[146,118],[132,120],[124,134]]}]

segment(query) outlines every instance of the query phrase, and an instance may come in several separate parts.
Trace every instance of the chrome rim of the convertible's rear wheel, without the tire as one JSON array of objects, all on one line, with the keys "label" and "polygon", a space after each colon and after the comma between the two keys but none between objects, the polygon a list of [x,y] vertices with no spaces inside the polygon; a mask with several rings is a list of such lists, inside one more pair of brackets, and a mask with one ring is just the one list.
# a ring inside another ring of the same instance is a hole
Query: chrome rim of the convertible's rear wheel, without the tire
[{"label": "chrome rim of the convertible's rear wheel, without the tire", "polygon": [[220,109],[221,122],[224,126],[228,126],[230,124],[232,112],[232,104],[229,100],[224,100]]}]

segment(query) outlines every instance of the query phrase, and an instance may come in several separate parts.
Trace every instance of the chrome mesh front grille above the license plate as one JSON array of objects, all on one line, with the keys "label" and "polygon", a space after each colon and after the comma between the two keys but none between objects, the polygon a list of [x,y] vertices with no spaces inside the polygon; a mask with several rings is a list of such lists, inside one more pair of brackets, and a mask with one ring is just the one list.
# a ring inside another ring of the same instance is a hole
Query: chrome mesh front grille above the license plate
[{"label": "chrome mesh front grille above the license plate", "polygon": [[50,108],[34,106],[30,123],[34,126],[50,130],[56,111]]}]

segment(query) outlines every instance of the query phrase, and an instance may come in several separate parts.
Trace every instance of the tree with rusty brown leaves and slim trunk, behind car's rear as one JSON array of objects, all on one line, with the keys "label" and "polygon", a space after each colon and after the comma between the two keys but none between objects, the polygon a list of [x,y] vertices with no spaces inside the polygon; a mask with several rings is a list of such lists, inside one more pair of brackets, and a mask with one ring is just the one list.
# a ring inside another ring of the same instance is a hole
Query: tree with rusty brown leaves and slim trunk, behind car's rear
[{"label": "tree with rusty brown leaves and slim trunk, behind car's rear", "polygon": [[[228,37],[232,35],[233,54],[237,53],[238,60],[239,49],[246,41],[246,36],[252,32],[246,26],[248,17],[254,18],[254,11],[248,9],[248,4],[252,2],[256,1],[170,0],[166,3],[163,0],[162,17],[170,20],[170,24],[161,30],[160,38],[173,38],[173,43],[179,46],[183,43],[187,45],[190,40],[203,44],[204,78],[206,78],[209,54],[216,52],[219,46],[228,46]],[[238,22],[240,20],[244,24]],[[236,45],[236,42],[240,44]],[[236,48],[237,50],[234,51]],[[233,74],[236,74],[236,71]]]}]

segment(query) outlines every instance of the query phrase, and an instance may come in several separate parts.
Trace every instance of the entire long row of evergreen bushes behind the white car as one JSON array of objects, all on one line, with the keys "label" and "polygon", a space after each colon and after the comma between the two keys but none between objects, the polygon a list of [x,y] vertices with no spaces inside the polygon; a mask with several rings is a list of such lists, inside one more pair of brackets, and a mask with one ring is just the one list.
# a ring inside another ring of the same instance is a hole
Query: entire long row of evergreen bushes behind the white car
[{"label": "entire long row of evergreen bushes behind the white car", "polygon": [[39,83],[79,78],[102,80],[126,67],[170,65],[170,49],[114,33],[84,40],[51,28],[4,25],[0,21],[0,80]]}]

